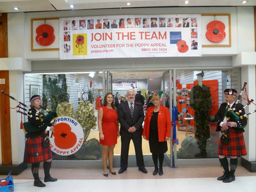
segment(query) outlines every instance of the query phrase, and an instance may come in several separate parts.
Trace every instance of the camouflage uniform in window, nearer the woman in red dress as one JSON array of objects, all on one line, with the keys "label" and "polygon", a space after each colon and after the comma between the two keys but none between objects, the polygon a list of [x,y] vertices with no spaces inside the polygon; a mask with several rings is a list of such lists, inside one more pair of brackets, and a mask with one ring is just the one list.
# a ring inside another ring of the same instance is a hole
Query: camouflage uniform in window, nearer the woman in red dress
[{"label": "camouflage uniform in window, nearer the woman in red dress", "polygon": [[91,129],[96,129],[94,108],[93,104],[90,104],[90,101],[81,101],[77,108],[76,119],[83,128],[84,141],[86,141],[91,132]]}]

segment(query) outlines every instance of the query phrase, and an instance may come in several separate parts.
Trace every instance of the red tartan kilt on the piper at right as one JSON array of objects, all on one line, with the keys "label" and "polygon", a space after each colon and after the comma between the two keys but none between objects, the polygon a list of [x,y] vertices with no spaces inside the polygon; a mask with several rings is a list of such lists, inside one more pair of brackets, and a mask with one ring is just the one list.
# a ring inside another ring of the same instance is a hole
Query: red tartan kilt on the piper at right
[{"label": "red tartan kilt on the piper at right", "polygon": [[218,155],[220,156],[246,156],[246,147],[243,133],[232,132],[228,135],[228,144],[223,145],[220,141]]}]

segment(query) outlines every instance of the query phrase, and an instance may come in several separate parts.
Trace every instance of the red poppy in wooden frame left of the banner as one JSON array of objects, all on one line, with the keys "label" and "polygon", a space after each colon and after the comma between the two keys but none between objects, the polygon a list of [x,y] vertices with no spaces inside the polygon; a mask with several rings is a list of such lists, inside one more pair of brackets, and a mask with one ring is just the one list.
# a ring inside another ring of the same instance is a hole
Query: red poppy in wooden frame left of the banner
[{"label": "red poppy in wooden frame left of the banner", "polygon": [[36,28],[36,42],[42,46],[49,46],[55,40],[54,29],[48,24],[43,24]]}]

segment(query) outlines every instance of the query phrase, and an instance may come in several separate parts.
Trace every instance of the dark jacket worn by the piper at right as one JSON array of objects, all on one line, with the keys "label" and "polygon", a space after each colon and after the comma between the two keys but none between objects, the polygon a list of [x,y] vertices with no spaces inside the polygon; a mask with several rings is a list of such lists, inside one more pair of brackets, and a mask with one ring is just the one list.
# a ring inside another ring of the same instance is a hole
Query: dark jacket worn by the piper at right
[{"label": "dark jacket worn by the piper at right", "polygon": [[[238,112],[239,110],[242,110],[243,109],[243,105],[238,103],[236,105],[236,103],[233,104],[232,108],[234,108],[236,106],[236,111],[234,111],[235,113]],[[225,109],[227,108],[227,103],[226,102],[223,102],[221,105],[220,105],[220,109],[218,110],[218,112],[216,113],[215,115],[215,121],[217,123],[217,128],[216,128],[216,131],[221,131],[221,127],[220,127],[220,123],[223,122],[223,119],[224,119],[224,115],[225,115]],[[239,115],[244,115],[245,112],[244,110],[242,110],[242,113]],[[244,129],[240,128],[239,127],[243,127],[244,125],[247,124],[247,118],[243,118],[242,120],[239,120],[236,122],[237,124],[237,127],[232,127],[234,129],[236,129],[236,132],[244,132]]]}]

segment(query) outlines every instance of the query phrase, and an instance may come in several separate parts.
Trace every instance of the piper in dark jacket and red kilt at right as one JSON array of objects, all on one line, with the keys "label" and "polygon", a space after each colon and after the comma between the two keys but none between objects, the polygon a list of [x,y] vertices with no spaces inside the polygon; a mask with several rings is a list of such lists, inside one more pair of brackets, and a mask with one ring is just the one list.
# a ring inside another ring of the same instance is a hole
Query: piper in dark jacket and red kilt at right
[{"label": "piper in dark jacket and red kilt at right", "polygon": [[[246,147],[243,138],[243,127],[247,124],[247,118],[240,120],[225,118],[227,111],[232,110],[234,113],[239,113],[239,116],[244,115],[243,105],[237,103],[237,91],[234,89],[226,89],[225,101],[220,106],[220,109],[215,115],[217,123],[216,131],[222,131],[228,136],[228,143],[219,143],[218,156],[221,166],[224,169],[224,175],[218,177],[218,180],[223,182],[232,182],[236,180],[234,173],[236,172],[237,157],[246,156]],[[241,110],[241,111],[240,111]],[[239,112],[240,111],[240,112]],[[230,171],[228,169],[227,156],[230,157]]]}]

